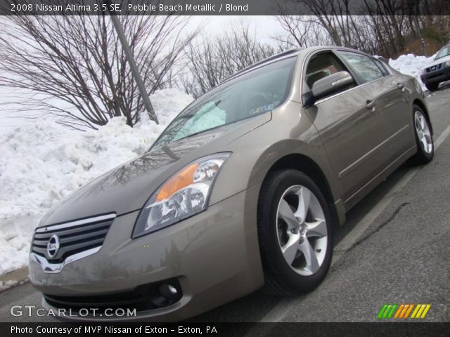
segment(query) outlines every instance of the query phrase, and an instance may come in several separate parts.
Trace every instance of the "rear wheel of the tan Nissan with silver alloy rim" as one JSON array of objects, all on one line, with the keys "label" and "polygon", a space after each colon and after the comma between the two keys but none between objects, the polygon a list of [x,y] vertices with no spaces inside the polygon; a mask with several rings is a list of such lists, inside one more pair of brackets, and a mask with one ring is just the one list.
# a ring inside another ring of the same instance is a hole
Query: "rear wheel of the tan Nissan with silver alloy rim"
[{"label": "rear wheel of the tan Nissan with silver alloy rim", "polygon": [[417,153],[413,158],[418,164],[427,164],[432,161],[435,154],[430,121],[423,110],[417,105],[413,106],[413,118],[417,144]]}]

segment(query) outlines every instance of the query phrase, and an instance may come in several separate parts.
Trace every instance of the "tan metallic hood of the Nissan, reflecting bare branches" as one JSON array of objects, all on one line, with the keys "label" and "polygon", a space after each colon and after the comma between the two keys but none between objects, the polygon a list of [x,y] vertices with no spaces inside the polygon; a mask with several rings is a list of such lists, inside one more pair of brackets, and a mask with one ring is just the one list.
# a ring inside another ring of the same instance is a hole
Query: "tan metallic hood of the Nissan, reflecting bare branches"
[{"label": "tan metallic hood of the Nissan, reflecting bare branches", "polygon": [[46,213],[41,225],[105,213],[120,216],[141,209],[150,194],[186,164],[220,152],[226,144],[270,119],[271,112],[267,112],[150,150],[70,194]]}]

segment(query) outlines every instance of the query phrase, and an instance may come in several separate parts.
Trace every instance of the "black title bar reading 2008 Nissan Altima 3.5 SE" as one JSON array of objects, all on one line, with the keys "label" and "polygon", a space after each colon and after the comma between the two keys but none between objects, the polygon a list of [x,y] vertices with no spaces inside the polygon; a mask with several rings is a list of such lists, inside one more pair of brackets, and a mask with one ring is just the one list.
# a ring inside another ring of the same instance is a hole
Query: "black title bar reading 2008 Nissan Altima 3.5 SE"
[{"label": "black title bar reading 2008 Nissan Altima 3.5 SE", "polygon": [[0,15],[449,15],[442,0],[2,0]]}]

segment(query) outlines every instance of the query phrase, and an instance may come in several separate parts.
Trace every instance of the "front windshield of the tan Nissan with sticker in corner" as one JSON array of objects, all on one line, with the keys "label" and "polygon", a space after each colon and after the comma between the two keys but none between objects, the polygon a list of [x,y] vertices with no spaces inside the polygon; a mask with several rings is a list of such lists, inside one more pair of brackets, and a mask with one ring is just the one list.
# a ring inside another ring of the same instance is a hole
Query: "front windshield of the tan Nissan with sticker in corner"
[{"label": "front windshield of the tan Nissan with sticker in corner", "polygon": [[212,89],[186,107],[152,148],[273,110],[288,95],[295,60],[264,65]]}]

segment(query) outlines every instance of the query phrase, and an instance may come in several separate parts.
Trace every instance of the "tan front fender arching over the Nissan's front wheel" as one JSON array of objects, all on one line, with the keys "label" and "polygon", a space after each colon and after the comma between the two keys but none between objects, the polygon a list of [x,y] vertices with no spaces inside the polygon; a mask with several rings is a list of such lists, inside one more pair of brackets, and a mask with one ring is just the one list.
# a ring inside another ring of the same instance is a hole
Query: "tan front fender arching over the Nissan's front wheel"
[{"label": "tan front fender arching over the Nissan's front wheel", "polygon": [[326,177],[333,199],[340,199],[340,187],[319,133],[299,103],[288,101],[274,110],[271,121],[229,143],[224,150],[233,154],[222,166],[210,204],[261,184],[274,164],[290,154],[314,161]]}]

